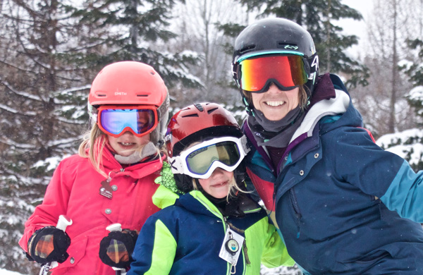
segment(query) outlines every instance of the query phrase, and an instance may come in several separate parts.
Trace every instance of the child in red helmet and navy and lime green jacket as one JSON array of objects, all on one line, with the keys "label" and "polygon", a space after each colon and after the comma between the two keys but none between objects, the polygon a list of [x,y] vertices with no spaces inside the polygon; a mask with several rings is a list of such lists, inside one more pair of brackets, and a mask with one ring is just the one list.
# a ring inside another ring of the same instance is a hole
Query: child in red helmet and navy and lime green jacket
[{"label": "child in red helmet and navy and lime green jacket", "polygon": [[266,212],[245,191],[245,142],[218,104],[194,104],[171,118],[166,146],[186,194],[147,219],[128,275],[259,274],[261,261],[293,265]]}]

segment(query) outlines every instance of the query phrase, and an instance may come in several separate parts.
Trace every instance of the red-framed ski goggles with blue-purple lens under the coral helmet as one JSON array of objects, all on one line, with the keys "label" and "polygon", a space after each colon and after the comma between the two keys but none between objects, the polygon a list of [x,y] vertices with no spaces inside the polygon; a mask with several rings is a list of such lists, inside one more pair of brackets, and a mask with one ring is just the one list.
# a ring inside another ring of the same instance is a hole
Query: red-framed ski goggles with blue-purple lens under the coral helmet
[{"label": "red-framed ski goggles with blue-purple lens under the coral helmet", "polygon": [[140,138],[151,133],[158,123],[154,106],[103,105],[98,109],[97,125],[104,133],[115,138],[126,131]]}]

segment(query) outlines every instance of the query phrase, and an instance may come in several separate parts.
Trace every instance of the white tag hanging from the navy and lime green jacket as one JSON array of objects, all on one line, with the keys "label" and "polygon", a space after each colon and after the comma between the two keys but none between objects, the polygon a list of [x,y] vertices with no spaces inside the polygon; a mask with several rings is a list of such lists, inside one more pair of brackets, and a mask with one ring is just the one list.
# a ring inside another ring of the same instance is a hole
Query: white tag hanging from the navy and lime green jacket
[{"label": "white tag hanging from the navy and lime green jacket", "polygon": [[219,257],[230,263],[232,267],[236,266],[240,252],[244,243],[244,237],[228,228],[225,238],[223,239],[222,247],[219,252]]}]

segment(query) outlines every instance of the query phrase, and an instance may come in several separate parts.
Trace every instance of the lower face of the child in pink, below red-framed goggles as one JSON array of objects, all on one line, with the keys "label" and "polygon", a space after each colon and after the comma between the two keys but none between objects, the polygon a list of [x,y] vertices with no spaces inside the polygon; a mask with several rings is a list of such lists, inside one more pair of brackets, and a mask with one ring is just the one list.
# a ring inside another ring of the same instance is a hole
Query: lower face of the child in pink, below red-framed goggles
[{"label": "lower face of the child in pink, below red-framed goggles", "polygon": [[110,146],[123,157],[128,157],[133,154],[137,149],[140,149],[142,145],[146,145],[150,141],[150,135],[143,135],[138,138],[133,133],[126,131],[123,135],[118,138],[114,138],[111,135],[107,135],[109,138]]}]

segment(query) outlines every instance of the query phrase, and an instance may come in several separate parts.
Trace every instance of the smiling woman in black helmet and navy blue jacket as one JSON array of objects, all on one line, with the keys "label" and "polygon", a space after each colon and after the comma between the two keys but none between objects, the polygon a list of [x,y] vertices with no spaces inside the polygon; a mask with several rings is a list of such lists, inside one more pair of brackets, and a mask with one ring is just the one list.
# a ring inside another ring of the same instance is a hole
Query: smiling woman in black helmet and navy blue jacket
[{"label": "smiling woman in black helmet and navy blue jacket", "polygon": [[312,37],[283,18],[238,35],[247,173],[310,274],[422,274],[422,172],[377,146]]}]

